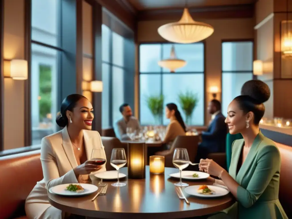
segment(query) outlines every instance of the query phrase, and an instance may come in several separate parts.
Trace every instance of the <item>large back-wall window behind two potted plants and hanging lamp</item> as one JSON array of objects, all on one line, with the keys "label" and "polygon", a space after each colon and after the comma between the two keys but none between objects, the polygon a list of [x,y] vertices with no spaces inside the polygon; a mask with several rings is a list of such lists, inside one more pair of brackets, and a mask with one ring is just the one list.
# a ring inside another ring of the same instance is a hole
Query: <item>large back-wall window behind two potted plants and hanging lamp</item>
[{"label": "large back-wall window behind two potted plants and hanging lamp", "polygon": [[188,125],[204,125],[204,44],[174,44],[177,57],[187,62],[175,73],[157,64],[159,60],[170,57],[171,46],[172,44],[140,45],[140,122],[142,125],[169,123],[165,116],[157,120],[148,107],[147,101],[154,103],[157,100],[155,98],[160,96],[164,97],[164,106],[170,102],[178,105],[186,122],[180,97],[189,96],[189,102],[185,101],[185,104],[195,100],[196,107]]}]

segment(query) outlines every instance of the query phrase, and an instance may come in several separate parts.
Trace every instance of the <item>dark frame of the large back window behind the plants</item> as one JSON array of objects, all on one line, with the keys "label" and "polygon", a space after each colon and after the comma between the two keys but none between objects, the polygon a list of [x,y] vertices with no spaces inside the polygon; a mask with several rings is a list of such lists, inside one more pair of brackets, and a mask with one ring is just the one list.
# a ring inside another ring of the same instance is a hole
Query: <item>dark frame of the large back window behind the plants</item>
[{"label": "dark frame of the large back window behind the plants", "polygon": [[[203,117],[204,117],[204,124],[203,125],[191,125],[192,127],[202,127],[205,125],[206,122],[206,112],[205,112],[205,107],[206,107],[206,41],[199,41],[196,43],[192,44],[203,44],[203,66],[204,66],[204,71],[203,72],[163,72],[163,67],[160,67],[160,72],[140,72],[140,46],[144,44],[152,44],[152,45],[161,45],[161,51],[160,51],[160,60],[163,59],[163,44],[177,44],[177,43],[172,43],[172,42],[140,42],[138,44],[138,53],[137,53],[137,62],[138,62],[138,119],[139,122],[141,121],[141,109],[140,109],[140,75],[141,74],[160,74],[160,94],[163,95],[163,75],[164,74],[203,74],[204,75],[204,92],[203,92],[203,99],[204,99],[204,109],[203,109]],[[140,122],[141,124],[141,122]],[[147,126],[149,124],[141,124],[142,126]],[[161,118],[161,125],[163,126],[163,118]]]}]

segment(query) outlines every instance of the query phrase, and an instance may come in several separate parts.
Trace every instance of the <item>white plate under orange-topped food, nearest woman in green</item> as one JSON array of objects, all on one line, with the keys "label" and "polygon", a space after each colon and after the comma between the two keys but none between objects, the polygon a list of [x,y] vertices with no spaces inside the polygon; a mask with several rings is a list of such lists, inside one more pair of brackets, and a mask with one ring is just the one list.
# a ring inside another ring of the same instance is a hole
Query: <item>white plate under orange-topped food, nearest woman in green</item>
[{"label": "white plate under orange-topped food, nearest woman in green", "polygon": [[192,185],[185,188],[185,192],[190,195],[194,195],[197,197],[204,197],[204,198],[215,198],[215,197],[221,197],[224,195],[227,195],[229,193],[229,190],[224,189],[222,187],[214,186],[214,185],[208,185],[208,188],[211,189],[214,193],[207,195],[207,194],[201,194],[197,190],[201,185]]}]

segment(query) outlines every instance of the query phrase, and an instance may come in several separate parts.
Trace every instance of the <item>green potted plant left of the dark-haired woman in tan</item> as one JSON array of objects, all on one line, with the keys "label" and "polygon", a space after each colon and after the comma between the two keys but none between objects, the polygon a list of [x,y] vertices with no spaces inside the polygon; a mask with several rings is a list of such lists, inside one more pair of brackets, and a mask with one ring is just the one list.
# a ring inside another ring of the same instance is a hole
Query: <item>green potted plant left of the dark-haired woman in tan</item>
[{"label": "green potted plant left of the dark-haired woman in tan", "polygon": [[164,95],[150,95],[146,97],[146,103],[154,117],[155,124],[161,124],[163,116]]}]

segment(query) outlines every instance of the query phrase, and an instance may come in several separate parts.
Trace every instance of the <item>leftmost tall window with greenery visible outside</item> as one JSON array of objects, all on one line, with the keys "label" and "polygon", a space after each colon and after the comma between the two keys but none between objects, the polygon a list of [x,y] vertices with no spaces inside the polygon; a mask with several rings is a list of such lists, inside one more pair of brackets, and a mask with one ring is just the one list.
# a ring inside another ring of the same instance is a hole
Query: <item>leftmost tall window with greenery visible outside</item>
[{"label": "leftmost tall window with greenery visible outside", "polygon": [[56,131],[61,0],[32,0],[32,144]]}]

